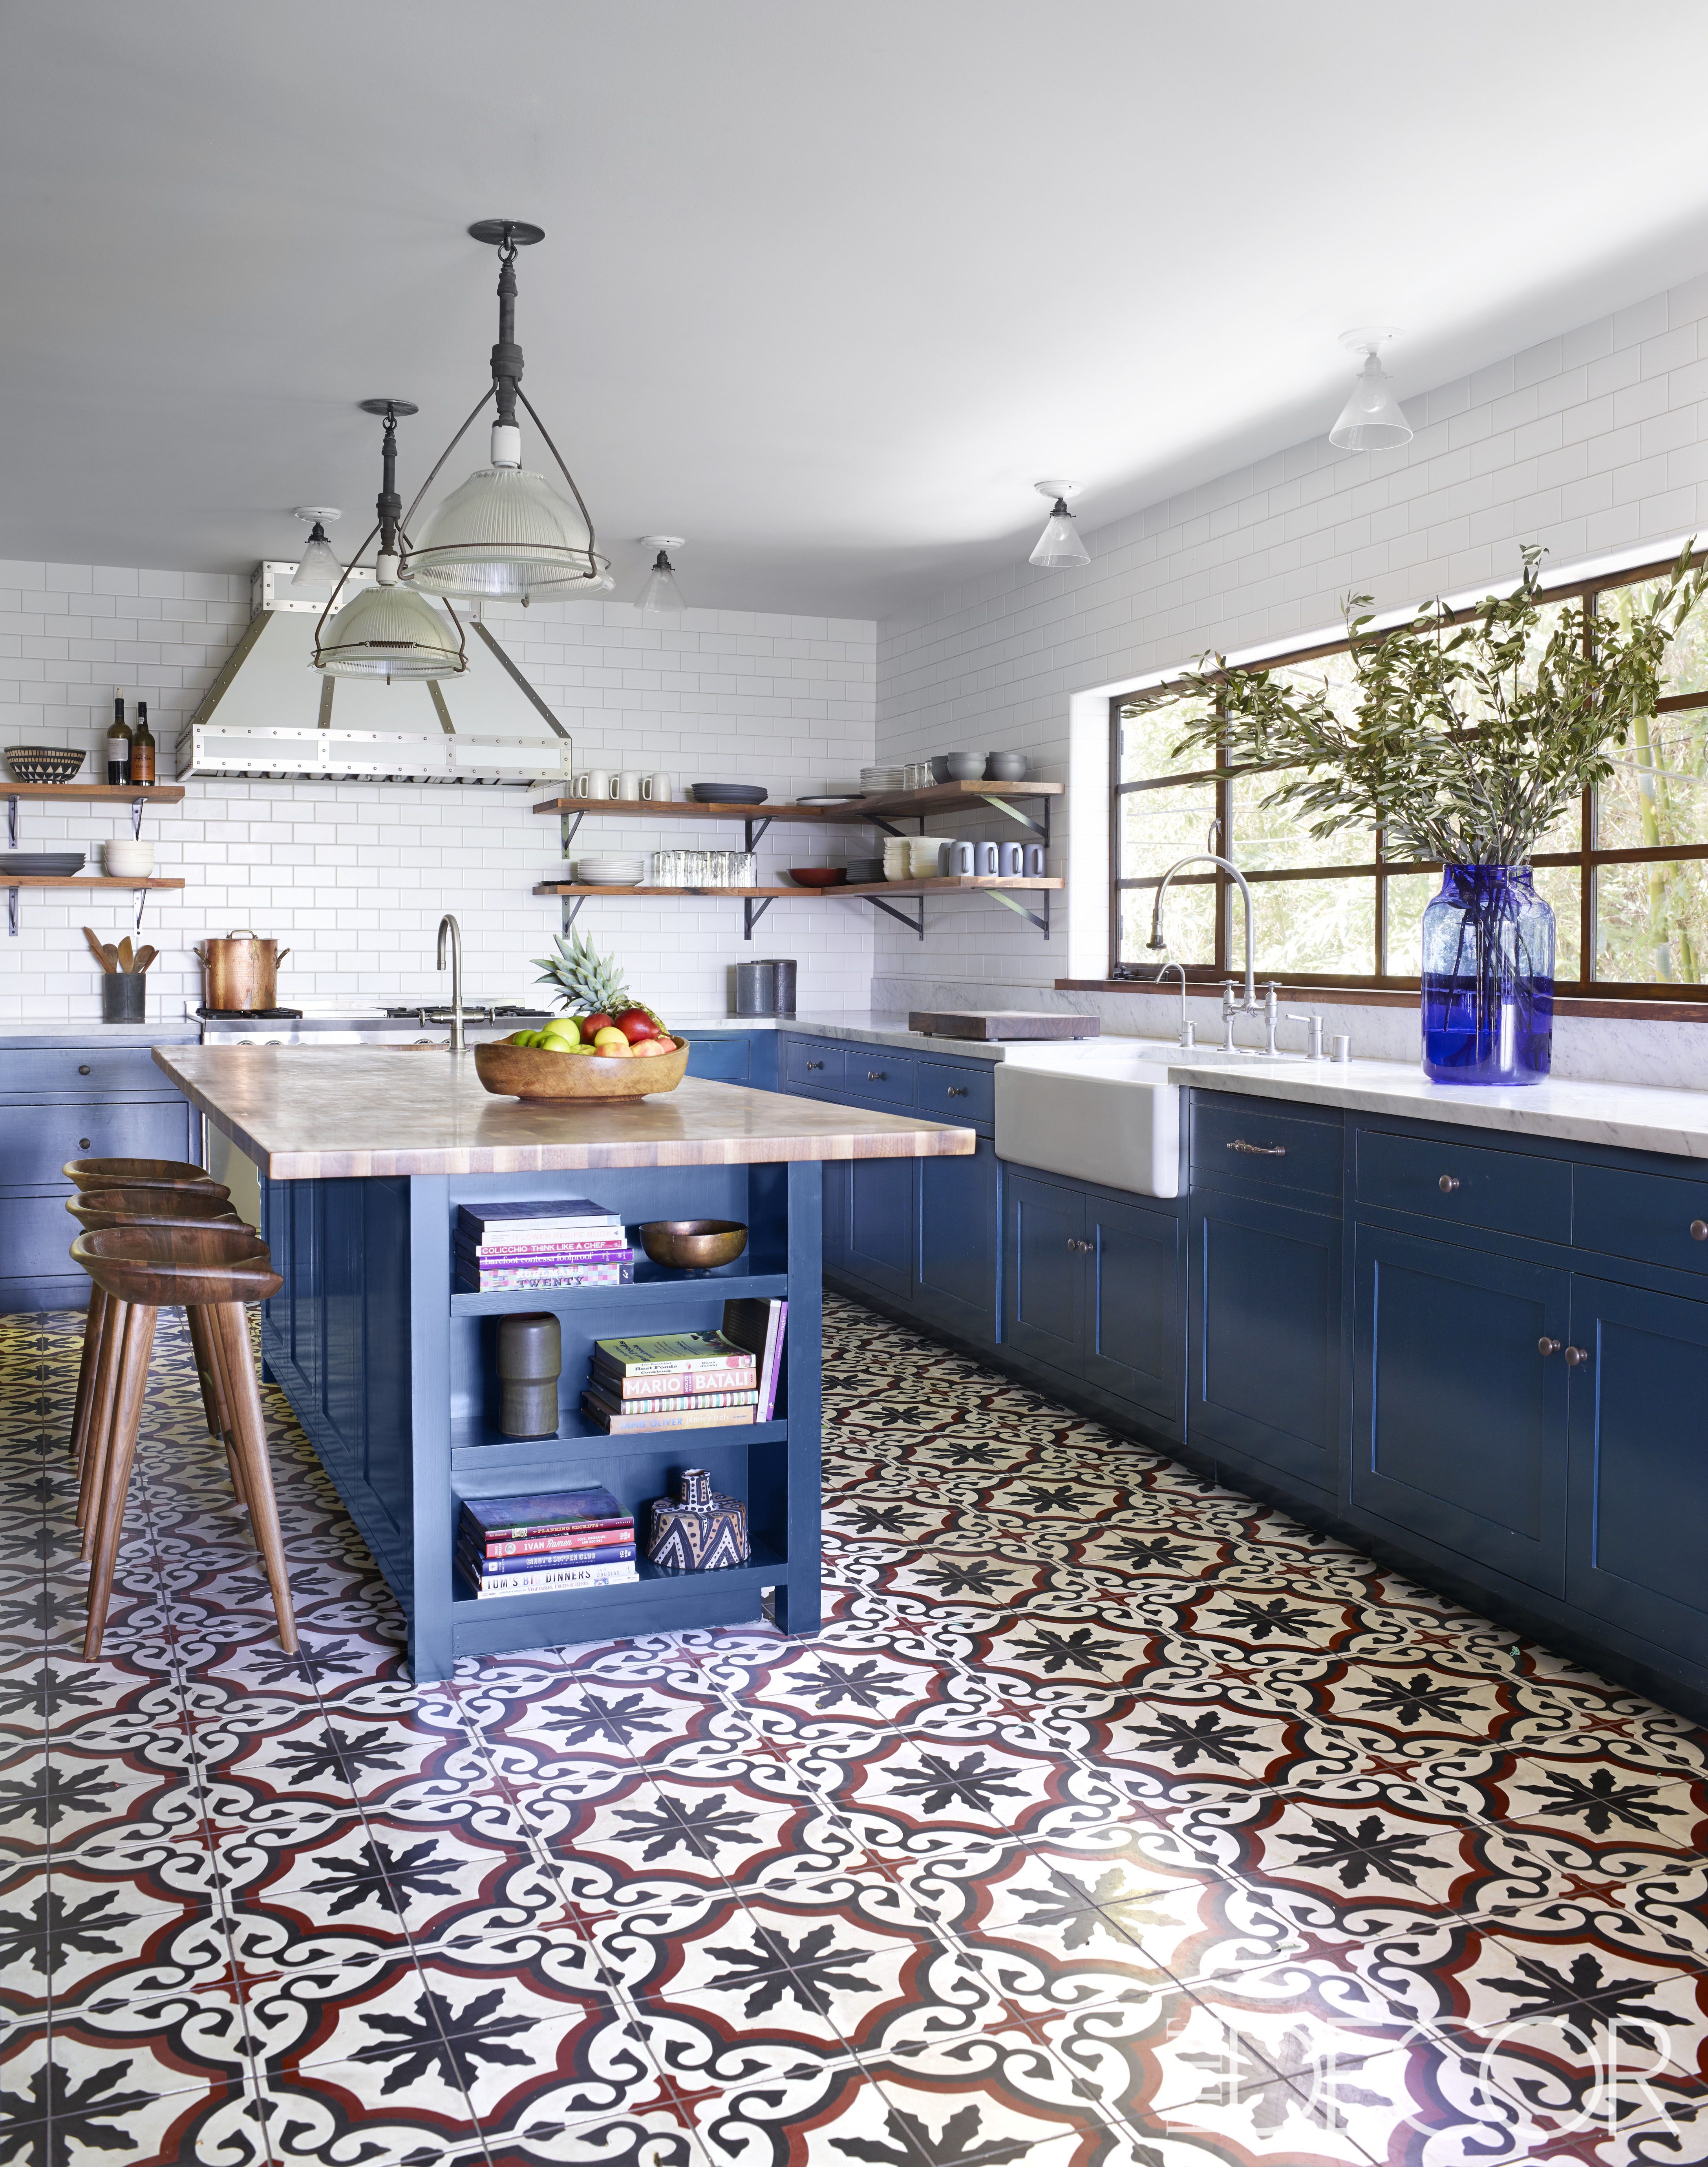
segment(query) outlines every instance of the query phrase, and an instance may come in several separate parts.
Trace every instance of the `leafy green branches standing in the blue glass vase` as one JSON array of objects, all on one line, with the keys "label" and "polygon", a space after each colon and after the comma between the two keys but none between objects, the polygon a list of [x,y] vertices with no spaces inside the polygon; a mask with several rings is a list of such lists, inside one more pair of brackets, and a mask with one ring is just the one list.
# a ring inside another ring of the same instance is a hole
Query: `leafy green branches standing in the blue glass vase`
[{"label": "leafy green branches standing in the blue glass vase", "polygon": [[1350,719],[1327,687],[1298,693],[1212,652],[1168,687],[1203,700],[1175,756],[1207,750],[1218,778],[1290,769],[1270,797],[1309,815],[1318,841],[1353,819],[1383,830],[1394,862],[1524,865],[1558,815],[1608,780],[1608,750],[1654,711],[1667,646],[1708,587],[1708,566],[1691,570],[1693,550],[1695,537],[1630,631],[1567,605],[1539,654],[1537,544],[1524,546],[1517,587],[1459,622],[1437,598],[1372,631],[1370,596],[1353,594],[1342,605]]}]

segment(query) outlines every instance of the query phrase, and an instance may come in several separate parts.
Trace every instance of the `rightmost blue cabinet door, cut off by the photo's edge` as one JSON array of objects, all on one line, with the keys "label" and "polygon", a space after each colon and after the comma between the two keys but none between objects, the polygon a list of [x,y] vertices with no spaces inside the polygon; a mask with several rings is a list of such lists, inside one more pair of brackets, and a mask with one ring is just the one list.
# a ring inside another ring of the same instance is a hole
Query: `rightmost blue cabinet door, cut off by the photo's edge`
[{"label": "rightmost blue cabinet door, cut off by the photo's edge", "polygon": [[1578,1274],[1569,1344],[1565,1597],[1708,1669],[1708,1302]]}]

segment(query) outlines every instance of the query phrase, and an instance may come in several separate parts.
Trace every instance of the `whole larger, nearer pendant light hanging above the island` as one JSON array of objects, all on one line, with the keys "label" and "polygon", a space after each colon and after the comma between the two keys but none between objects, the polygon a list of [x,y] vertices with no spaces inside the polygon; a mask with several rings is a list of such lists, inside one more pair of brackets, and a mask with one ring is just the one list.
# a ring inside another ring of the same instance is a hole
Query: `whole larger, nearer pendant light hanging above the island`
[{"label": "whole larger, nearer pendant light hanging above the island", "polygon": [[[594,522],[587,505],[522,390],[522,349],[516,345],[516,249],[544,241],[544,228],[525,225],[520,219],[481,219],[468,232],[475,241],[499,249],[499,345],[492,349],[492,390],[475,407],[479,414],[488,399],[496,401],[492,464],[477,466],[468,481],[434,511],[420,546],[407,550],[399,576],[423,594],[457,594],[470,600],[514,600],[518,596],[559,600],[579,594],[609,594],[616,581],[609,561],[594,550]],[[531,475],[522,468],[518,403],[529,410],[529,418],[557,459],[577,501],[579,518],[544,475]],[[444,446],[438,466],[420,488],[420,496],[410,505],[410,518],[434,485],[440,466],[462,442],[475,414]],[[585,529],[585,540],[581,540],[581,529]]]}]

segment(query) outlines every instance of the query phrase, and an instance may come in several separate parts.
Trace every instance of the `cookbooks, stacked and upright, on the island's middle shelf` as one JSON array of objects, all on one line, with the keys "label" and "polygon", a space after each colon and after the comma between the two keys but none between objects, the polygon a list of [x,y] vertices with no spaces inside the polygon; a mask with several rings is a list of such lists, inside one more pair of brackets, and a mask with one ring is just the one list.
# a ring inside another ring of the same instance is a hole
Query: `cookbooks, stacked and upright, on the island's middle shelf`
[{"label": "cookbooks, stacked and upright, on the island's middle shelf", "polygon": [[724,1302],[717,1333],[594,1339],[581,1413],[611,1437],[642,1430],[724,1430],[776,1415],[782,1300]]}]

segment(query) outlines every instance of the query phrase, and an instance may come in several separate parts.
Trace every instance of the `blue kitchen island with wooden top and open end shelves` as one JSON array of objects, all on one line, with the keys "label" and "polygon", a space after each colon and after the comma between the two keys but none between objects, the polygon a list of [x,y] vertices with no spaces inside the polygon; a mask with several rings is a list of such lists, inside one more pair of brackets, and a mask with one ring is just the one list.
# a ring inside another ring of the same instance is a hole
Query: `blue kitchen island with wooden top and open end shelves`
[{"label": "blue kitchen island with wooden top and open end shelves", "polygon": [[[971,1129],[685,1079],[631,1101],[490,1097],[473,1057],[410,1049],[160,1047],[154,1060],[260,1172],[282,1292],[262,1361],[290,1400],[392,1586],[418,1684],[457,1656],[622,1638],[761,1614],[819,1625],[821,1166],[962,1157]],[[590,1196],[626,1224],[728,1218],[748,1250],[715,1272],[637,1261],[624,1287],[468,1294],[453,1283],[460,1205]],[[776,1419],[607,1437],[581,1387],[594,1339],[707,1331],[733,1298],[787,1298]],[[496,1428],[494,1335],[551,1309],[564,1335],[559,1428]],[[451,1565],[462,1497],[600,1482],[639,1513],[683,1465],[743,1497],[746,1567],[631,1586],[475,1597]]]}]

